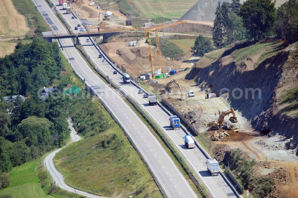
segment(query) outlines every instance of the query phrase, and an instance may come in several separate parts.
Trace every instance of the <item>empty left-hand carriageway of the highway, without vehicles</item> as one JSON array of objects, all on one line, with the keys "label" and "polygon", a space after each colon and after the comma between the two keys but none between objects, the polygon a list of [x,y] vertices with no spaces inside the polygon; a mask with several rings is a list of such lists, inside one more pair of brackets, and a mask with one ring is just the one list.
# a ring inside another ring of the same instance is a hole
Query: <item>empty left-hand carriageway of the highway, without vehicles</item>
[{"label": "empty left-hand carriageway of the highway, without vehicles", "polygon": [[[66,29],[56,18],[52,9],[43,0],[33,0],[38,10],[44,16],[48,24],[52,26],[57,34],[67,33]],[[57,4],[58,1],[55,1]],[[58,6],[58,8],[62,8]],[[64,10],[63,10],[64,11]],[[71,17],[71,15],[66,15]],[[72,39],[60,39],[61,49],[72,67],[81,79],[86,79],[86,85],[90,87],[95,95],[103,100],[105,105],[113,112],[122,126],[131,136],[134,144],[138,147],[150,169],[158,178],[158,182],[168,197],[197,197],[178,170],[173,160],[169,157],[161,144],[139,119],[133,110],[125,103],[119,93],[106,85],[86,64],[81,54],[73,46]]]}]

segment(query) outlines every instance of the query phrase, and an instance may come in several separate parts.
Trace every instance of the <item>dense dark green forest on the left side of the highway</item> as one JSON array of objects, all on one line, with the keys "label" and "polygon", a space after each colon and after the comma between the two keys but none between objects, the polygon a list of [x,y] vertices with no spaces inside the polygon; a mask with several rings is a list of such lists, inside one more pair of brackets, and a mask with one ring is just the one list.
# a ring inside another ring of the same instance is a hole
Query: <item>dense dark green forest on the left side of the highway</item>
[{"label": "dense dark green forest on the left side of the highway", "polygon": [[[69,97],[50,96],[44,101],[37,96],[40,88],[61,78],[59,50],[57,43],[32,38],[0,58],[0,189],[8,185],[1,173],[63,146],[69,138]],[[19,97],[11,102],[3,99],[13,95],[27,98],[25,102]]]}]

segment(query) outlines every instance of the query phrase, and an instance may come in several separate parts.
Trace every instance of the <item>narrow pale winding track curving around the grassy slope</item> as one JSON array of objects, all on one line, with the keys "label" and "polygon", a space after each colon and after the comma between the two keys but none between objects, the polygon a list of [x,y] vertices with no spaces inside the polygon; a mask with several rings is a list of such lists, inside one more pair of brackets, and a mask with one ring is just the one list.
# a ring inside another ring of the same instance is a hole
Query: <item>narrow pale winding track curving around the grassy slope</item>
[{"label": "narrow pale winding track curving around the grassy slope", "polygon": [[[69,121],[69,128],[71,129],[71,133],[70,133],[70,136],[72,138],[71,142],[80,141],[81,137],[75,131],[72,120],[69,119],[68,121]],[[53,162],[53,158],[56,155],[56,153],[58,153],[63,148],[60,148],[60,149],[55,150],[54,152],[51,152],[49,155],[46,156],[46,158],[44,158],[44,165],[46,165],[47,171],[51,174],[51,176],[54,180],[52,182],[55,182],[55,184],[58,187],[66,190],[66,191],[70,191],[70,192],[73,192],[73,193],[76,192],[76,194],[81,194],[83,196],[90,197],[90,198],[104,198],[104,197],[89,194],[89,193],[86,193],[84,191],[80,191],[80,190],[77,190],[77,189],[75,190],[74,188],[66,185],[66,183],[64,182],[64,179],[63,179],[63,175],[55,168],[55,165],[54,165],[54,162]]]}]

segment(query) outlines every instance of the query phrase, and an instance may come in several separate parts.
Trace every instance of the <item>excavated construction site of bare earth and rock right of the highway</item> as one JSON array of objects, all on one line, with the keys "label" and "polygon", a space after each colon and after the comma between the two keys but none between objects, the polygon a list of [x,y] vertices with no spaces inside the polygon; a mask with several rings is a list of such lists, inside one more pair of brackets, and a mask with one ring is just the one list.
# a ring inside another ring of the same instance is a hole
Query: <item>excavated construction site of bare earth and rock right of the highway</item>
[{"label": "excavated construction site of bare earth and rock right of the highway", "polygon": [[[93,21],[90,28],[132,28],[125,26],[125,21],[134,17],[109,10],[113,15],[103,21],[105,15],[98,13],[107,10],[88,4],[86,0],[77,1],[75,6],[82,18]],[[295,104],[283,102],[287,91],[297,86],[297,65],[292,58],[297,57],[297,43],[287,47],[279,40],[238,42],[204,57],[193,56],[191,50],[179,57],[164,57],[159,37],[212,35],[212,22],[208,21],[213,16],[203,16],[196,6],[181,17],[188,20],[184,23],[167,26],[169,22],[164,22],[153,24],[151,28],[157,29],[151,31],[125,32],[100,47],[122,70],[150,85],[161,101],[204,134],[210,142],[209,151],[219,162],[228,163],[231,150],[236,148],[254,159],[254,175],[275,181],[266,198],[297,197],[297,109],[292,108]],[[147,22],[144,20],[145,25]],[[156,38],[155,45],[151,45],[150,37]],[[140,74],[151,76],[141,80]],[[152,84],[153,81],[158,82]],[[246,92],[249,88],[258,91]],[[190,92],[193,97],[189,97]]]}]

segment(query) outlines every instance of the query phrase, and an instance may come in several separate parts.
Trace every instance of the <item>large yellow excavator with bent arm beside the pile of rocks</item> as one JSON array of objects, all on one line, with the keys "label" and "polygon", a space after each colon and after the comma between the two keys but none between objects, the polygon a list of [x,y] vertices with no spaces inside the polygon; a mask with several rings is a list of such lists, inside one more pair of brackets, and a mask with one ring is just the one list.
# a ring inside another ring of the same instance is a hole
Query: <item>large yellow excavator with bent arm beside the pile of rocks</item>
[{"label": "large yellow excavator with bent arm beside the pile of rocks", "polygon": [[[231,109],[229,109],[227,111],[223,111],[219,115],[218,121],[208,122],[207,123],[207,127],[209,127],[208,128],[208,131],[209,130],[218,130],[219,128],[227,128],[228,127],[228,123],[225,122],[224,117],[227,116],[227,115],[229,115],[230,113],[232,113],[233,116],[231,116],[229,118],[229,121],[232,122],[232,123],[238,122],[237,117],[236,117],[236,114],[235,114],[235,111],[234,111],[233,108],[231,108]],[[234,128],[236,128],[235,125],[234,125]]]}]

